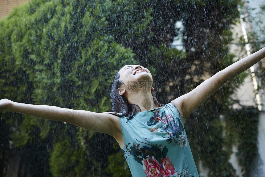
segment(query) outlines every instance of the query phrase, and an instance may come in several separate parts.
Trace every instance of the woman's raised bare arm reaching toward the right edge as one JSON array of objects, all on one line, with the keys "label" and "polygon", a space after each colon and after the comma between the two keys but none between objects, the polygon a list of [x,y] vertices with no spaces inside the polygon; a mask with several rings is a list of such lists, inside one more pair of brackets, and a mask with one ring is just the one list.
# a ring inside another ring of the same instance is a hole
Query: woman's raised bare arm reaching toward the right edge
[{"label": "woman's raised bare arm reaching toward the right edge", "polygon": [[189,93],[182,95],[177,99],[174,99],[172,103],[179,110],[183,122],[195,109],[197,109],[202,103],[204,103],[206,99],[208,99],[224,83],[247,70],[264,57],[265,47],[214,74],[214,76],[202,82]]}]

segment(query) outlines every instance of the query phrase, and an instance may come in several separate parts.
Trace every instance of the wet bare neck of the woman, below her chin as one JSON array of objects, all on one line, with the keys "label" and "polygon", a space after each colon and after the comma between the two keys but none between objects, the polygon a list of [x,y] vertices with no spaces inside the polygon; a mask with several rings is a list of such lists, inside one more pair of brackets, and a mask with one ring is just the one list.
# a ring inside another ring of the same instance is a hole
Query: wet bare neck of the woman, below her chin
[{"label": "wet bare neck of the woman, below her chin", "polygon": [[136,104],[140,107],[141,112],[149,111],[158,108],[154,102],[151,91],[133,91],[132,94],[127,95],[130,104]]}]

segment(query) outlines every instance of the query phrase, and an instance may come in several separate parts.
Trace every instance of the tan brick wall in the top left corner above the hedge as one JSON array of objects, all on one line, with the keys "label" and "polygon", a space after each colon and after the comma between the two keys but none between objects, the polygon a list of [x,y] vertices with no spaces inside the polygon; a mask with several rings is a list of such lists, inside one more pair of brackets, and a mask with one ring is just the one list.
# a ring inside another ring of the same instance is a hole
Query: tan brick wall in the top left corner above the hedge
[{"label": "tan brick wall in the top left corner above the hedge", "polygon": [[0,0],[0,19],[6,17],[14,6],[18,6],[28,0]]}]

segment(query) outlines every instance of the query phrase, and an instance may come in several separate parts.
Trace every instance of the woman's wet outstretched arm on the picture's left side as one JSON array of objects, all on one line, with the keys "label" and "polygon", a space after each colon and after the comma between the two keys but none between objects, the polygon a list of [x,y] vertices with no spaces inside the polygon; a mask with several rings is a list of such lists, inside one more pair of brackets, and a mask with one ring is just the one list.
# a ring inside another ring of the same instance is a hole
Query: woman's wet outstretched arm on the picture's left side
[{"label": "woman's wet outstretched arm on the picture's left side", "polygon": [[24,104],[13,102],[8,99],[0,100],[0,111],[1,110],[67,122],[96,132],[110,134],[115,137],[117,141],[119,141],[118,139],[120,139],[120,135],[122,135],[119,117],[109,114],[108,112],[97,113],[56,106]]}]

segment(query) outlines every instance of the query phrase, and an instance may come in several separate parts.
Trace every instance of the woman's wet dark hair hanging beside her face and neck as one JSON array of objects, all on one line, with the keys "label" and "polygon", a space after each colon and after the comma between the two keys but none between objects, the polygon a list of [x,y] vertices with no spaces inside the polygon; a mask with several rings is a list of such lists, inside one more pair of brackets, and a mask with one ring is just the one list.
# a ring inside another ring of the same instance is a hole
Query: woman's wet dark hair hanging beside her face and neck
[{"label": "woman's wet dark hair hanging beside her face and neck", "polygon": [[[118,88],[124,83],[120,80],[119,71],[116,72],[111,87],[110,98],[113,112],[110,112],[110,114],[119,117],[125,116],[127,120],[130,120],[135,113],[141,112],[141,109],[137,104],[130,104],[123,95],[120,95]],[[161,104],[156,99],[155,92],[153,91],[151,93],[154,103],[158,107],[161,107]]]}]

